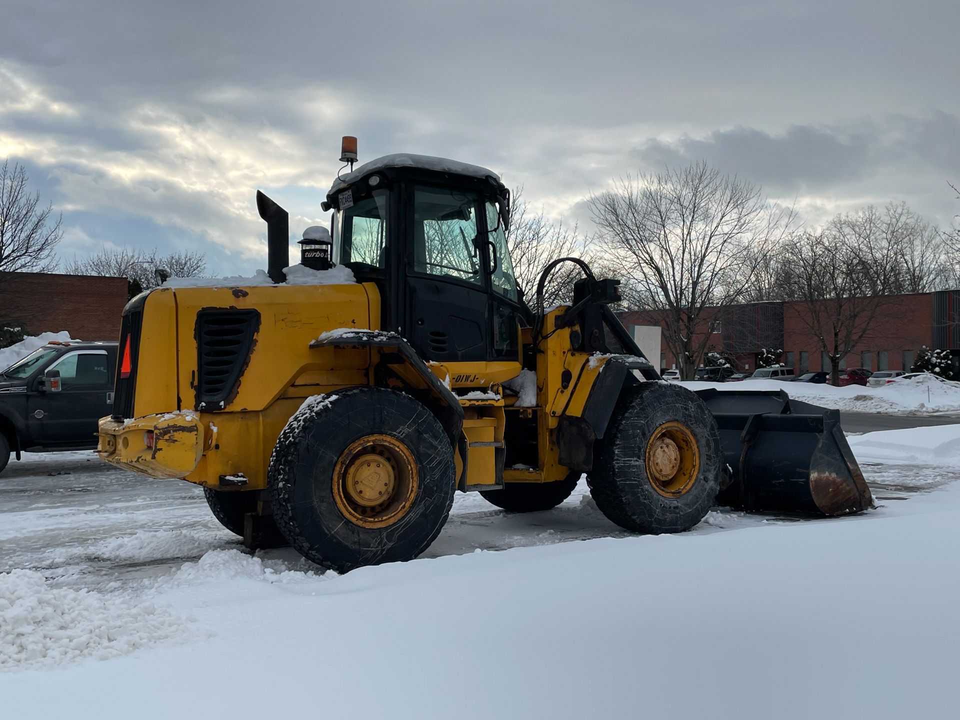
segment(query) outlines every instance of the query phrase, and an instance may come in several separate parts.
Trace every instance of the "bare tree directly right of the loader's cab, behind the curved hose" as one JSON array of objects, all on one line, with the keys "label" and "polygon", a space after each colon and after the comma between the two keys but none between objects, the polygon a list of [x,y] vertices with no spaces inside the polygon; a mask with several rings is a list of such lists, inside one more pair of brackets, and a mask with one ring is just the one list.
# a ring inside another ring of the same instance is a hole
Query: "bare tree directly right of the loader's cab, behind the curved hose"
[{"label": "bare tree directly right of the loader's cab, behind the curved hose", "polygon": [[[523,187],[514,191],[510,205],[510,230],[507,232],[507,248],[514,262],[516,284],[527,298],[537,291],[540,272],[558,257],[579,257],[591,261],[589,240],[577,226],[567,228],[563,222],[547,219],[543,211],[535,213],[523,202]],[[580,270],[572,263],[561,265],[547,280],[543,301],[549,305],[568,302],[573,297],[573,283],[580,277]]]}]

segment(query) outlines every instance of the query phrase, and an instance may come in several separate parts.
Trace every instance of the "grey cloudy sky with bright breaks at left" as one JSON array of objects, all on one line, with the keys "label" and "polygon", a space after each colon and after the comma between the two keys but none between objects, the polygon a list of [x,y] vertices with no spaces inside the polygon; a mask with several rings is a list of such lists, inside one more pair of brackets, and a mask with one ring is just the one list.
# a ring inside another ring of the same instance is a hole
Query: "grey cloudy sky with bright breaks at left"
[{"label": "grey cloudy sky with bright breaks at left", "polygon": [[485,165],[551,216],[707,159],[811,221],[960,201],[960,2],[0,0],[0,158],[61,252],[265,263],[257,188],[320,208],[340,136]]}]

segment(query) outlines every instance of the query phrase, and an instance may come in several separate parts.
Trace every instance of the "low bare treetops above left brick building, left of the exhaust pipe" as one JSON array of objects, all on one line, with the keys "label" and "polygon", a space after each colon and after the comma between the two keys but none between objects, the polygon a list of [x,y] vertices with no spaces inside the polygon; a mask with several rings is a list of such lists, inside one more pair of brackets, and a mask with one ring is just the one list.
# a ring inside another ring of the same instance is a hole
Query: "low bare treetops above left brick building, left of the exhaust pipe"
[{"label": "low bare treetops above left brick building, left of the exhaust pipe", "polygon": [[64,270],[71,275],[126,277],[130,296],[156,287],[156,270],[165,270],[174,277],[203,276],[206,258],[192,250],[167,255],[152,251],[123,248],[102,248],[84,258],[74,257]]}]

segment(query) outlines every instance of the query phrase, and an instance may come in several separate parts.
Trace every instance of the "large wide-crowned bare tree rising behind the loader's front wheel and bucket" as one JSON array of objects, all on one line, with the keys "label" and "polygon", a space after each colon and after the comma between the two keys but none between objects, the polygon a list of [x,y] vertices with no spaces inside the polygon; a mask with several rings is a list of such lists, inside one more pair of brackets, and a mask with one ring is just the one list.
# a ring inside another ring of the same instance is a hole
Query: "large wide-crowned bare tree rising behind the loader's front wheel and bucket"
[{"label": "large wide-crowned bare tree rising behind the loader's front wheel and bucket", "polygon": [[792,208],[699,162],[628,176],[589,198],[606,259],[635,307],[691,379],[710,342],[711,306],[741,300],[763,258],[790,232]]}]

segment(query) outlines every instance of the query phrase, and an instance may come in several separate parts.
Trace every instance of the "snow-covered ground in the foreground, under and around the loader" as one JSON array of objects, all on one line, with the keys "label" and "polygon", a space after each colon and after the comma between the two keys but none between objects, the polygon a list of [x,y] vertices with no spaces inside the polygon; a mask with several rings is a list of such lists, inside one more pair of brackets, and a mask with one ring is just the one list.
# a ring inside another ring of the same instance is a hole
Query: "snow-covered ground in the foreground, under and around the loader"
[{"label": "snow-covered ground in the foreground, under and around the loader", "polygon": [[960,425],[850,441],[879,506],[863,516],[717,510],[635,537],[584,484],[527,516],[459,495],[423,558],[345,576],[289,549],[242,553],[181,481],[31,456],[0,476],[0,707],[952,716]]}]

